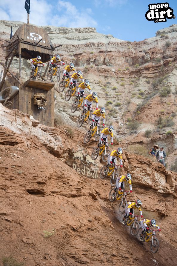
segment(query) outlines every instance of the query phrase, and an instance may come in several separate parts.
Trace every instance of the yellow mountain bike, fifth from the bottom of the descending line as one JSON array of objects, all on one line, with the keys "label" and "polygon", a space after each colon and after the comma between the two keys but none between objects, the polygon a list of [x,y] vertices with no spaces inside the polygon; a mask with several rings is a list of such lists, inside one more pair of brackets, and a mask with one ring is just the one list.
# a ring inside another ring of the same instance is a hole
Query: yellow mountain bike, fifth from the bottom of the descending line
[{"label": "yellow mountain bike, fifth from the bottom of the descending line", "polygon": [[92,160],[96,160],[96,158],[98,157],[98,155],[102,155],[102,161],[103,162],[107,162],[107,158],[108,158],[108,155],[110,154],[110,150],[109,150],[109,147],[108,147],[108,145],[107,144],[109,144],[109,142],[105,142],[105,141],[103,141],[102,142],[102,144],[101,144],[101,146],[98,148],[98,147],[96,147],[96,148],[94,148],[93,149],[93,151],[92,151],[92,155],[91,155],[91,157],[92,157]]}]

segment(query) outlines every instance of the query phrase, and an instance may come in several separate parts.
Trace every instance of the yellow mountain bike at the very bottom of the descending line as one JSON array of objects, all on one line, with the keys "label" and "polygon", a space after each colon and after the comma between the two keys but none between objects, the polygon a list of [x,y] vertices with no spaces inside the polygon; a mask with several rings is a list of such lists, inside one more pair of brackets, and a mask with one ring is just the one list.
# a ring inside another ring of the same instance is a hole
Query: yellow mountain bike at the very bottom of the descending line
[{"label": "yellow mountain bike at the very bottom of the descending line", "polygon": [[147,233],[147,231],[143,234],[143,236],[141,236],[142,231],[144,230],[143,227],[140,227],[138,229],[138,233],[137,233],[137,239],[139,241],[141,241],[140,239],[143,239],[143,242],[149,242],[151,241],[150,244],[150,250],[152,253],[156,253],[158,251],[159,248],[159,241],[156,238],[156,231],[158,230],[154,230],[154,229],[149,229],[150,233]]}]

